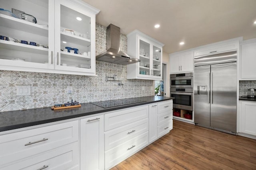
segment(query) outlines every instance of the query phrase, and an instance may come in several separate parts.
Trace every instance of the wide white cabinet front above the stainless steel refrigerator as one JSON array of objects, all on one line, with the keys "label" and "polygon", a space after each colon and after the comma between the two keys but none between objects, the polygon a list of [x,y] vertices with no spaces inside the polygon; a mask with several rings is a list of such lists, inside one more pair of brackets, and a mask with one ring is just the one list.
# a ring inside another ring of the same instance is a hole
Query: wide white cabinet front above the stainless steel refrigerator
[{"label": "wide white cabinet front above the stainless steel refrigerator", "polygon": [[209,47],[204,47],[201,49],[197,49],[194,51],[194,57],[195,56],[201,56],[201,55],[211,55],[215,53],[225,52],[225,51],[231,51],[236,50],[239,47],[239,42],[232,42],[232,43],[223,43],[219,45],[212,45]]}]

